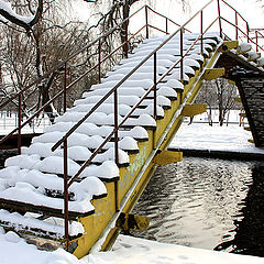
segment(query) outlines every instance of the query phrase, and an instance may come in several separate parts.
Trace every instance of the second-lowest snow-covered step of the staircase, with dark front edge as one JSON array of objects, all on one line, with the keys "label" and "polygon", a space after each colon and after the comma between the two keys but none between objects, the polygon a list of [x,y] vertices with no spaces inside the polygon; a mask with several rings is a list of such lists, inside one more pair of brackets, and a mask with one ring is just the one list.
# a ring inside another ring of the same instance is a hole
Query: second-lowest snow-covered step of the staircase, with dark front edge
[{"label": "second-lowest snow-covered step of the staircase, with dark front edge", "polygon": [[[105,185],[99,179],[94,178],[97,180],[94,183],[87,179],[80,183],[77,195],[68,202],[70,219],[89,216],[95,212],[90,189],[103,188],[103,193],[106,191]],[[0,202],[4,209],[12,208],[13,210],[42,212],[44,215],[52,213],[55,217],[64,216],[63,198],[46,196],[43,188],[35,188],[29,183],[16,182],[14,186],[1,185]]]}]

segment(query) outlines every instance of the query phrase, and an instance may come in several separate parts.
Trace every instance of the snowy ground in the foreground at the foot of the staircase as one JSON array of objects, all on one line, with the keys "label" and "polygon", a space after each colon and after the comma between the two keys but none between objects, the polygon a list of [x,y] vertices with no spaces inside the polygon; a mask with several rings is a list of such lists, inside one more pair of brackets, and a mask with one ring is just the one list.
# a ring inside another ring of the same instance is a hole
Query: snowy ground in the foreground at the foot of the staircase
[{"label": "snowy ground in the foreground at the foot of the staircase", "polygon": [[[77,260],[59,249],[37,251],[15,233],[0,230],[1,264],[263,264],[264,258],[172,245],[120,235],[111,252],[98,252]],[[15,252],[15,254],[13,254]]]}]

